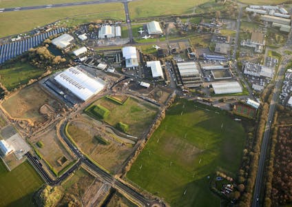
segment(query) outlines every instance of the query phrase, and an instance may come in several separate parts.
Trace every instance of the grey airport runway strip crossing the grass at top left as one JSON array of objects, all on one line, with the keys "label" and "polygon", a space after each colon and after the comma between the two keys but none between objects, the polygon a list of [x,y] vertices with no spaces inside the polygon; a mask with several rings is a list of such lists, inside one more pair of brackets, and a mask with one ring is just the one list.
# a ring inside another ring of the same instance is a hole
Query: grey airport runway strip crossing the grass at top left
[{"label": "grey airport runway strip crossing the grass at top left", "polygon": [[56,3],[48,4],[42,6],[25,6],[25,7],[16,7],[16,8],[0,8],[0,12],[14,12],[22,10],[39,10],[45,8],[60,8],[66,6],[81,6],[81,5],[90,5],[90,4],[99,4],[99,3],[116,3],[116,2],[125,2],[127,0],[102,0],[102,1],[81,1],[75,3]]}]

